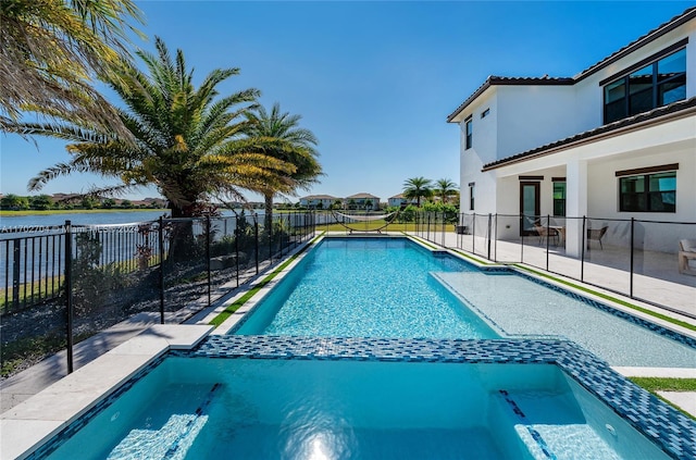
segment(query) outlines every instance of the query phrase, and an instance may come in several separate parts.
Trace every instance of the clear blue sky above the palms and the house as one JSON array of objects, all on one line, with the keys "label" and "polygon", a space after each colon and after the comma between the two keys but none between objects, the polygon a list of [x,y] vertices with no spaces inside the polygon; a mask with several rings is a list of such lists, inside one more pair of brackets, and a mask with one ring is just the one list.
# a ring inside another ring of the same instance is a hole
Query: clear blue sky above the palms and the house
[{"label": "clear blue sky above the palms and the house", "polygon": [[[302,115],[325,176],[304,195],[386,199],[409,177],[459,182],[459,129],[446,116],[488,75],[572,76],[693,2],[138,1],[152,50],[181,48],[200,82],[239,67],[221,91],[254,87],[261,102]],[[114,101],[117,103],[117,101]],[[64,144],[0,135],[0,192],[29,195],[39,171],[69,160]],[[41,192],[114,184],[94,175]],[[34,192],[32,195],[37,195]],[[128,198],[157,196],[141,189]],[[249,194],[249,199],[258,197]],[[291,201],[297,198],[290,197]]]}]

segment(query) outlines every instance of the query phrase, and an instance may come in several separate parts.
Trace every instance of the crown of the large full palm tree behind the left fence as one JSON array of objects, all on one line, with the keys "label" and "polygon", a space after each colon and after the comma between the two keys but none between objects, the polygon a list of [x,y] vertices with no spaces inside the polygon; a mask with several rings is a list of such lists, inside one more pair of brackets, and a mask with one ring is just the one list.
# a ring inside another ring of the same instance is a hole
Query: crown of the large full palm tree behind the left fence
[{"label": "crown of the large full palm tree behind the left fence", "polygon": [[243,136],[244,113],[253,107],[259,91],[246,89],[215,99],[216,86],[239,70],[214,70],[195,88],[182,50],[172,59],[162,40],[157,38],[154,45],[157,54],[137,53],[149,74],[123,62],[117,78],[109,82],[125,105],[119,115],[135,145],[117,133],[70,119],[22,124],[21,134],[75,142],[66,147],[72,160],[40,172],[29,182],[29,189],[38,190],[58,176],[94,172],[120,183],[92,190],[92,195],[154,185],[169,200],[172,216],[183,217],[195,215],[212,195],[244,200],[240,189],[287,184],[285,175],[295,167],[263,154],[258,142],[250,145]]}]

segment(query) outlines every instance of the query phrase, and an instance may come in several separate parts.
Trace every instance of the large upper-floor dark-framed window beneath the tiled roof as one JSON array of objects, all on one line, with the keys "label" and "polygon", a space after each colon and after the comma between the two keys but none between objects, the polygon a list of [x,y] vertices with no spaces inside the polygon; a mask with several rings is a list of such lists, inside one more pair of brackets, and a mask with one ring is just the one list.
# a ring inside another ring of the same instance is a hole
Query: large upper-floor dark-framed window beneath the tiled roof
[{"label": "large upper-floor dark-framed window beneath the tiled roof", "polygon": [[605,124],[686,99],[686,49],[604,86]]}]

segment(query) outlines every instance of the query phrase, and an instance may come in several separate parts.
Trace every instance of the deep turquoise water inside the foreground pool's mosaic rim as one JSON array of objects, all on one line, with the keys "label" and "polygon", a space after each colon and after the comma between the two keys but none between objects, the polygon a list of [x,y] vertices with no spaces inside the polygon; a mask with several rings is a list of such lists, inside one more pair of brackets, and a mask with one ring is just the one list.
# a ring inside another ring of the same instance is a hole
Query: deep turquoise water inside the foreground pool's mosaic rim
[{"label": "deep turquoise water inside the foreground pool's mosaic rim", "polygon": [[662,459],[551,364],[167,358],[49,458]]}]

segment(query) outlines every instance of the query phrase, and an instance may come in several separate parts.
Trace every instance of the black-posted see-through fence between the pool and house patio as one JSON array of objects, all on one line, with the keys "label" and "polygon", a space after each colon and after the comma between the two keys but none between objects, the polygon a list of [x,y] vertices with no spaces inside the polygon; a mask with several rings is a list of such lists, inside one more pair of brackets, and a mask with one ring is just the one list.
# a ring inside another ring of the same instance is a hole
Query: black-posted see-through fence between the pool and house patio
[{"label": "black-posted see-through fence between the pool and house patio", "polygon": [[[696,240],[696,222],[421,213],[417,223],[415,234],[438,245],[524,263],[696,318],[695,261],[680,266],[679,254],[680,241]],[[688,303],[689,296],[691,310],[670,303]]]}]

